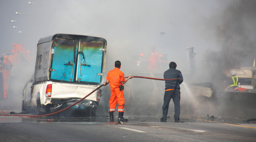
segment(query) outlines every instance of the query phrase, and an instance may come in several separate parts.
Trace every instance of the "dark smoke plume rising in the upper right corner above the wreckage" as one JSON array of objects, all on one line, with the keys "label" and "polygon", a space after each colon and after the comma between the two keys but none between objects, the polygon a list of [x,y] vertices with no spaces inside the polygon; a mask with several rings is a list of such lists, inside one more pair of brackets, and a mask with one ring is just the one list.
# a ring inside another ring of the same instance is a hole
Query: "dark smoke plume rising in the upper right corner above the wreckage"
[{"label": "dark smoke plume rising in the upper right corner above the wreckage", "polygon": [[220,51],[205,52],[203,62],[203,66],[211,73],[218,74],[223,69],[237,66],[253,66],[256,58],[255,6],[254,0],[234,0],[233,8],[231,1],[222,14],[216,15],[220,19],[216,23]]}]

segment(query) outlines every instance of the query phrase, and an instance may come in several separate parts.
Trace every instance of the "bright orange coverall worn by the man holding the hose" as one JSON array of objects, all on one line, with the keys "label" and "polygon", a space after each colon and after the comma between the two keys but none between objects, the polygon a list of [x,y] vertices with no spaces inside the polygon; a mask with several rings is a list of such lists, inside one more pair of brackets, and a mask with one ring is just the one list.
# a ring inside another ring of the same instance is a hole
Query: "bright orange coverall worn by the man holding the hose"
[{"label": "bright orange coverall worn by the man holding the hose", "polygon": [[124,92],[121,90],[119,86],[122,81],[125,81],[125,76],[119,68],[115,68],[108,72],[106,80],[109,80],[111,96],[109,99],[110,109],[109,111],[116,111],[116,104],[118,102],[118,112],[125,112],[125,98]]}]

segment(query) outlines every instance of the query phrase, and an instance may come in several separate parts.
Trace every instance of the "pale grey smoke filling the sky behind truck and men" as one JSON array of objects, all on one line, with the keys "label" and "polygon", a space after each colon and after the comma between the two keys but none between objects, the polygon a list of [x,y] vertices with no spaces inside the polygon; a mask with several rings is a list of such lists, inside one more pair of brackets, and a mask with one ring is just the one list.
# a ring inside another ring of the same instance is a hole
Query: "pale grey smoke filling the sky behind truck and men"
[{"label": "pale grey smoke filling the sky behind truck and men", "polygon": [[[146,55],[155,46],[159,54],[168,56],[168,61],[177,63],[186,83],[213,82],[218,88],[216,76],[222,69],[252,66],[255,58],[254,0],[34,0],[32,3],[0,1],[0,54],[10,52],[13,43],[22,44],[31,51],[32,63],[28,69],[34,68],[38,40],[56,33],[105,38],[108,42],[105,76],[116,60],[121,61],[125,76],[136,75],[127,74],[136,72],[135,57]],[[187,47],[194,47],[196,53],[193,76]],[[168,68],[163,65],[161,71]],[[31,75],[24,74],[28,79]],[[18,86],[22,88],[24,83]],[[132,89],[128,83],[126,86]]]}]

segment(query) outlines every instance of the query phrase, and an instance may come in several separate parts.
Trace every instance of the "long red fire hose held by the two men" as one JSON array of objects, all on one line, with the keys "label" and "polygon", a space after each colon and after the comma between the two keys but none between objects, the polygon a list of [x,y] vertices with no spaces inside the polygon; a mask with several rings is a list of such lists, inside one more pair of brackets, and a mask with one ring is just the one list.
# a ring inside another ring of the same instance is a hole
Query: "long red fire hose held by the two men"
[{"label": "long red fire hose held by the two men", "polygon": [[[125,76],[125,78],[128,78],[129,76]],[[143,79],[153,79],[153,80],[179,80],[179,79],[158,79],[158,78],[149,78],[149,77],[145,77],[145,76],[131,76],[132,78],[143,78]],[[0,116],[19,116],[19,117],[43,117],[43,116],[50,116],[50,115],[54,115],[57,113],[60,113],[61,111],[64,111],[74,105],[76,105],[77,103],[81,102],[83,99],[85,99],[86,97],[88,97],[89,95],[91,95],[93,92],[95,92],[96,90],[98,90],[100,87],[102,87],[102,85],[100,85],[99,87],[97,87],[95,90],[93,90],[92,92],[90,92],[88,95],[86,95],[85,97],[83,97],[82,99],[78,100],[76,103],[74,103],[71,106],[68,106],[62,110],[56,111],[55,113],[51,113],[51,114],[45,114],[45,115],[4,115],[4,114],[0,114]]]}]

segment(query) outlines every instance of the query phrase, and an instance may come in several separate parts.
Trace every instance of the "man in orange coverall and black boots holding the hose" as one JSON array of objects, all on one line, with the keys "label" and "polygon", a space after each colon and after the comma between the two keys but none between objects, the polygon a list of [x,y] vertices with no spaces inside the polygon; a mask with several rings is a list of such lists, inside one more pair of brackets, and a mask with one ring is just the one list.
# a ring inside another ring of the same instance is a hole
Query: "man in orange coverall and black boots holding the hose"
[{"label": "man in orange coverall and black boots holding the hose", "polygon": [[131,79],[131,75],[125,80],[124,73],[120,71],[121,62],[115,61],[115,69],[108,72],[106,77],[106,82],[103,83],[106,86],[108,83],[110,84],[111,96],[109,99],[109,115],[110,122],[114,121],[114,112],[116,111],[116,104],[118,102],[118,121],[128,121],[124,116],[125,109],[125,98],[124,98],[124,84]]}]

